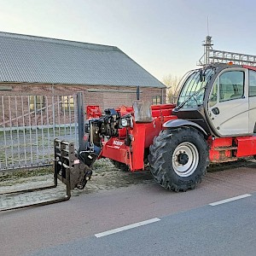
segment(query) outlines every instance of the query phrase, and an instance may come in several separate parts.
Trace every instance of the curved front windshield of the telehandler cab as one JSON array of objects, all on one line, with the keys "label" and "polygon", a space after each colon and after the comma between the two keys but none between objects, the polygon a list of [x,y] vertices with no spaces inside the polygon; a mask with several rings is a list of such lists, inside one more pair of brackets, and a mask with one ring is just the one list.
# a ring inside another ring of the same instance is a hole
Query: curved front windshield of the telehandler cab
[{"label": "curved front windshield of the telehandler cab", "polygon": [[212,68],[193,71],[183,84],[183,88],[177,100],[177,106],[182,108],[200,106],[204,101],[205,88],[212,77]]}]

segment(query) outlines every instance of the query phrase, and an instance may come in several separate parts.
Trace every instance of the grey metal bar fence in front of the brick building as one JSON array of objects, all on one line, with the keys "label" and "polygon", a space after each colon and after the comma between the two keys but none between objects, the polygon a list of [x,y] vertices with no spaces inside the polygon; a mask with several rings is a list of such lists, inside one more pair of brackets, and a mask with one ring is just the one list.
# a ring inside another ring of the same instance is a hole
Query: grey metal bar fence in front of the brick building
[{"label": "grey metal bar fence in front of the brick building", "polygon": [[52,163],[55,137],[78,142],[77,96],[0,96],[0,172]]}]

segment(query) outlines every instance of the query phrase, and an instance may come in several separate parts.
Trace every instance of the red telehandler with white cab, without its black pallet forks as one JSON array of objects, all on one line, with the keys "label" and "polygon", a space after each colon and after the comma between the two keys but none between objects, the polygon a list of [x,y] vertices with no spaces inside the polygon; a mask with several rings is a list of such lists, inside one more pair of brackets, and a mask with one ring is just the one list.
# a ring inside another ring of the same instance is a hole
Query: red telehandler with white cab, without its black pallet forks
[{"label": "red telehandler with white cab, without its black pallet forks", "polygon": [[76,186],[84,188],[99,158],[130,172],[148,165],[154,180],[173,191],[195,189],[209,163],[255,158],[255,67],[202,67],[187,73],[180,88],[176,104],[137,101],[104,113],[88,106],[73,163],[83,164]]}]

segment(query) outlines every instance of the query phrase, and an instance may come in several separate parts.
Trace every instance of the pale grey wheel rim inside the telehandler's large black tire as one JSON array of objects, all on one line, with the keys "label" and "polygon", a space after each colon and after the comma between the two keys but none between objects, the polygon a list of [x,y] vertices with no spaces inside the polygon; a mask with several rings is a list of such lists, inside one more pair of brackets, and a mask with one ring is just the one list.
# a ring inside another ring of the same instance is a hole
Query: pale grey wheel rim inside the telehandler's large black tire
[{"label": "pale grey wheel rim inside the telehandler's large black tire", "polygon": [[172,167],[180,177],[188,177],[195,172],[199,162],[199,153],[192,143],[181,143],[172,154]]}]

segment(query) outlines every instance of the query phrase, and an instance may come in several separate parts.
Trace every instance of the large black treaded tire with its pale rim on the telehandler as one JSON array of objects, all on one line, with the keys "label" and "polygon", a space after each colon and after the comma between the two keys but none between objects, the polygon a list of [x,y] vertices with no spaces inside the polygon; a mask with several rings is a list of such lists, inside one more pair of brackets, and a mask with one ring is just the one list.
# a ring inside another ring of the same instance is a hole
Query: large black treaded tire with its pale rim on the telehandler
[{"label": "large black treaded tire with its pale rim on the telehandler", "polygon": [[207,173],[207,142],[193,127],[160,131],[149,150],[150,172],[165,189],[176,192],[195,189]]}]

